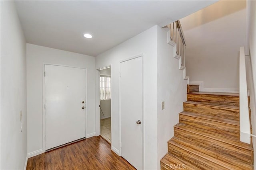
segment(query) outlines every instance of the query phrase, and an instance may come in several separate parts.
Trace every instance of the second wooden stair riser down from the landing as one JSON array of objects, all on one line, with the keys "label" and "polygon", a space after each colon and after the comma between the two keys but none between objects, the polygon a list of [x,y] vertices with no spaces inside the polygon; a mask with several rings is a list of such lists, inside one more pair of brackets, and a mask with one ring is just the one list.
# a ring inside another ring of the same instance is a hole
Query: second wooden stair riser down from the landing
[{"label": "second wooden stair riser down from the landing", "polygon": [[190,111],[194,113],[201,113],[204,115],[212,115],[216,117],[228,118],[239,120],[239,110],[238,109],[229,109],[205,105],[196,105],[196,104],[183,104],[184,111]]}]

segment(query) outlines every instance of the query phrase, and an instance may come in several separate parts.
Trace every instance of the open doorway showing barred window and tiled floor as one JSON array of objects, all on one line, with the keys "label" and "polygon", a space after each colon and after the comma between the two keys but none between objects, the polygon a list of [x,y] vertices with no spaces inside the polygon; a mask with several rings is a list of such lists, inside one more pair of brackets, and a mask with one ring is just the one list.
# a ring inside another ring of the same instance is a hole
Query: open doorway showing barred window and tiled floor
[{"label": "open doorway showing barred window and tiled floor", "polygon": [[100,136],[111,144],[111,67],[100,69]]}]

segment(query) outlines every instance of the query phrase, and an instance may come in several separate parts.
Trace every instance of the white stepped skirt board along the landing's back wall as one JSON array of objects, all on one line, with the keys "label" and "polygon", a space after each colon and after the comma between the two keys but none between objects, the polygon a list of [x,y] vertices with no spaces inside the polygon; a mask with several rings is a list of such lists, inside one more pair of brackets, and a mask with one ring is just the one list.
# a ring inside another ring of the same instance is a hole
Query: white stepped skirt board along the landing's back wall
[{"label": "white stepped skirt board along the landing's back wall", "polygon": [[224,92],[224,93],[239,93],[238,88],[204,88],[203,81],[192,81],[189,84],[199,84],[200,92]]}]

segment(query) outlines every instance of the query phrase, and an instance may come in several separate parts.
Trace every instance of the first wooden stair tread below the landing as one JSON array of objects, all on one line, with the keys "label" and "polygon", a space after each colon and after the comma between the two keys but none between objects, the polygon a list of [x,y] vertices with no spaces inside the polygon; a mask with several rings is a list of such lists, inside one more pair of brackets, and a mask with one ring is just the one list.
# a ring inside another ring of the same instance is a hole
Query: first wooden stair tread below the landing
[{"label": "first wooden stair tread below the landing", "polygon": [[211,107],[220,107],[220,108],[227,108],[227,109],[236,109],[239,110],[239,106],[232,106],[230,103],[223,102],[219,104],[218,102],[194,102],[194,101],[186,101],[184,104],[194,104],[194,105],[203,105],[203,106],[211,106]]}]

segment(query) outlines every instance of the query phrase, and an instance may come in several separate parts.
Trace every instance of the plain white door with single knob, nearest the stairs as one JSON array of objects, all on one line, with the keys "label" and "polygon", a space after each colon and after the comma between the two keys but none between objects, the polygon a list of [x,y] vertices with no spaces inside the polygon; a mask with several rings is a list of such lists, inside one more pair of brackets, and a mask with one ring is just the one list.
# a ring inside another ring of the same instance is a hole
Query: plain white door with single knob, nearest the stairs
[{"label": "plain white door with single knob, nearest the stairs", "polygon": [[121,154],[142,169],[142,57],[120,63]]}]

